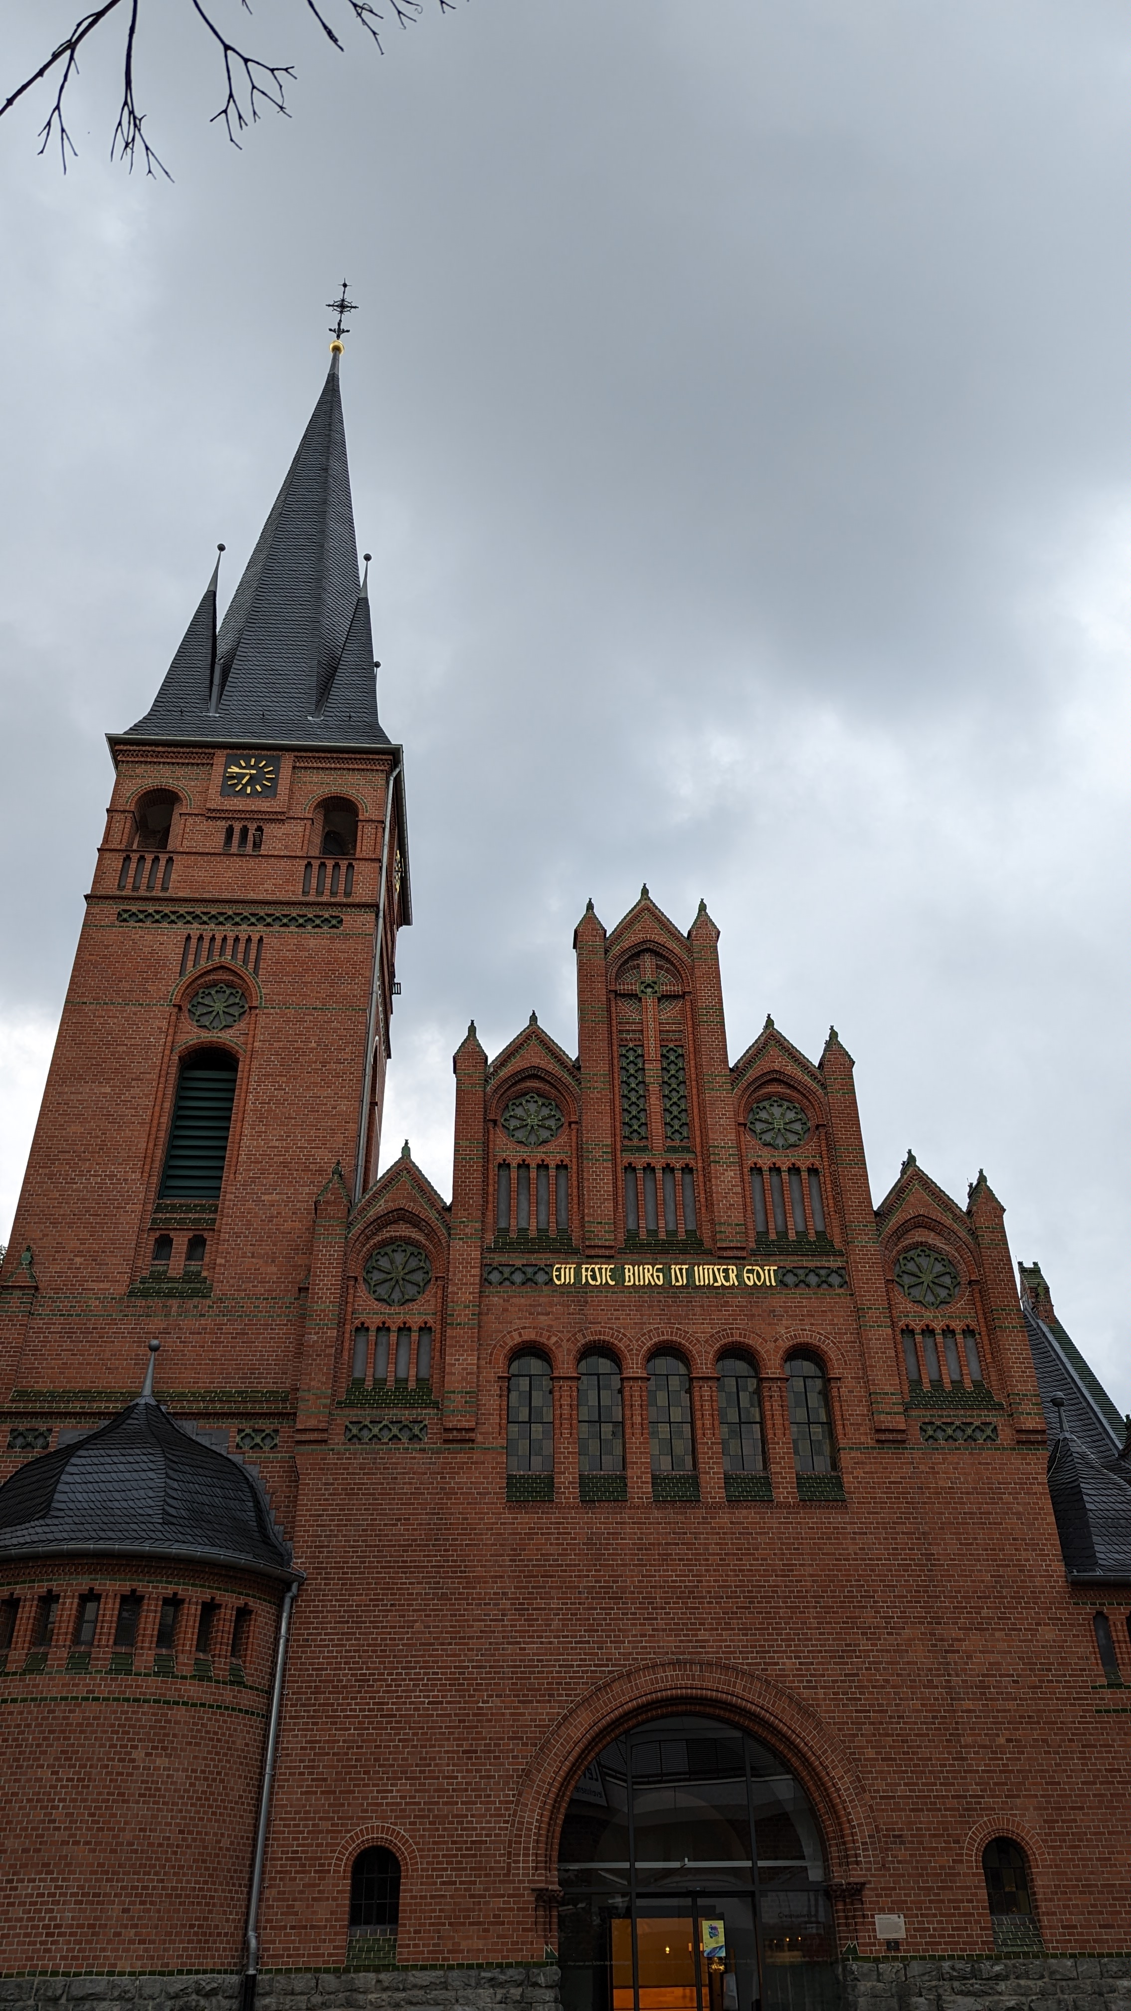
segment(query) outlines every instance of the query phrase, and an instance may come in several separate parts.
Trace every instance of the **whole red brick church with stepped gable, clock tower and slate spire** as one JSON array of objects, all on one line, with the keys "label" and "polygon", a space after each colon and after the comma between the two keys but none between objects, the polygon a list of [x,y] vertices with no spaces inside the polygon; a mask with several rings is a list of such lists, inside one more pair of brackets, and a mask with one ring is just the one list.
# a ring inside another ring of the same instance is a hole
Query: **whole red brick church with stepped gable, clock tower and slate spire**
[{"label": "whole red brick church with stepped gable, clock tower and slate spire", "polygon": [[0,2003],[1127,2003],[1131,1458],[986,1176],[873,1207],[837,1032],[731,1060],[646,889],[576,1052],[469,1028],[451,1201],[374,1174],[338,360],[109,736],[0,1277]]}]

